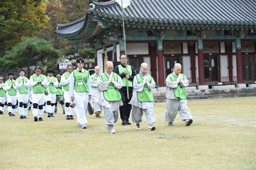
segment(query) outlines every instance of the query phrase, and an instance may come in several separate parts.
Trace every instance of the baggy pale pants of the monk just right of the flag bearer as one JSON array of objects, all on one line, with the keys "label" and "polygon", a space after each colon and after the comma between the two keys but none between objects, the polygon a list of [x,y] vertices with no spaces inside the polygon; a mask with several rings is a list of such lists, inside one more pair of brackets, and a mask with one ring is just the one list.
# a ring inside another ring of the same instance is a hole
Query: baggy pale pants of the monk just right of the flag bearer
[{"label": "baggy pale pants of the monk just right of the flag bearer", "polygon": [[153,113],[153,108],[142,109],[134,105],[132,106],[132,111],[131,111],[132,122],[134,123],[142,122],[143,111],[145,112],[147,124],[152,125],[153,123],[155,123],[156,120]]}]

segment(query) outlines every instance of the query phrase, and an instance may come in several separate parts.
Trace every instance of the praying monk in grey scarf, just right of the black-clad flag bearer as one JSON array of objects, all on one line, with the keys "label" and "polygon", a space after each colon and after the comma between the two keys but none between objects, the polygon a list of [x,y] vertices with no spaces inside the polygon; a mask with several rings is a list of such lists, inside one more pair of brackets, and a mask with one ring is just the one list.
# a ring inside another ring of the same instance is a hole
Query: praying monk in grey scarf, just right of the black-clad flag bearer
[{"label": "praying monk in grey scarf, just right of the black-clad flag bearer", "polygon": [[136,123],[136,129],[140,129],[140,122],[142,122],[143,111],[146,116],[148,130],[155,130],[155,116],[153,113],[154,98],[152,89],[156,83],[153,77],[148,74],[148,64],[143,62],[140,65],[140,73],[134,77],[134,94],[131,98],[130,104],[132,105],[131,119]]}]

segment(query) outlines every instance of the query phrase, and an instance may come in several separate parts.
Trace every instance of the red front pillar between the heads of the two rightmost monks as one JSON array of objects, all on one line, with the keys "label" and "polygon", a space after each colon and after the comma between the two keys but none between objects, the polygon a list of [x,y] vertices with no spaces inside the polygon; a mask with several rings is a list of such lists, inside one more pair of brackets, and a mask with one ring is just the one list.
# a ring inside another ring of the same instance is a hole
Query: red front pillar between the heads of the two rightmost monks
[{"label": "red front pillar between the heads of the two rightmost monks", "polygon": [[163,40],[157,38],[157,66],[158,66],[158,84],[164,87],[164,67],[163,67]]}]

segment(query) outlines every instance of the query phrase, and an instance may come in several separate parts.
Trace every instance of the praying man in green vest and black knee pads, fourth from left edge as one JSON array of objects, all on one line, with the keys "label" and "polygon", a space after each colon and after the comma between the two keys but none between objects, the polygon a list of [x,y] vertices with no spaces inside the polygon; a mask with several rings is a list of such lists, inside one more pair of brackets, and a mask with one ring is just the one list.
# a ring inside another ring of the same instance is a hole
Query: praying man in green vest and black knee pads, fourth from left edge
[{"label": "praying man in green vest and black knee pads, fourth from left edge", "polygon": [[[44,105],[44,92],[45,88],[48,87],[49,83],[47,83],[46,77],[41,74],[41,67],[35,67],[35,74],[33,74],[29,78],[30,87],[31,87],[31,98],[33,103],[33,111],[32,114],[34,116],[34,121],[37,122],[43,121],[43,105]],[[38,119],[39,117],[39,119]]]}]

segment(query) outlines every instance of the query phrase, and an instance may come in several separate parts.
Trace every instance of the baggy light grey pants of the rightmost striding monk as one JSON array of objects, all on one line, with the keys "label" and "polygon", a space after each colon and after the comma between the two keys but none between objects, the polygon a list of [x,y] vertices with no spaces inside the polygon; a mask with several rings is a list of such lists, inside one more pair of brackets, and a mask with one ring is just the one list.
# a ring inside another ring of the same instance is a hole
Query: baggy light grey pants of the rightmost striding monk
[{"label": "baggy light grey pants of the rightmost striding monk", "polygon": [[186,99],[183,99],[183,100],[166,99],[165,120],[167,122],[173,122],[178,111],[180,112],[181,120],[185,121],[187,119],[192,119]]}]

